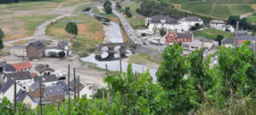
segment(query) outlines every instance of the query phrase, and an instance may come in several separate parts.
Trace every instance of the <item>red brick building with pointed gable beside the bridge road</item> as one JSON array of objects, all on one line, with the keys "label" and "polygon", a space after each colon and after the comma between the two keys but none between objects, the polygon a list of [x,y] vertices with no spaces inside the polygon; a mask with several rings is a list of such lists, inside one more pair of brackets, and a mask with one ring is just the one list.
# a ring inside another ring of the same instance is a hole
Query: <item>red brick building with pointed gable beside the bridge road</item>
[{"label": "red brick building with pointed gable beside the bridge road", "polygon": [[175,33],[168,32],[166,34],[166,46],[170,43],[183,43],[183,42],[192,42],[193,35],[191,33]]}]

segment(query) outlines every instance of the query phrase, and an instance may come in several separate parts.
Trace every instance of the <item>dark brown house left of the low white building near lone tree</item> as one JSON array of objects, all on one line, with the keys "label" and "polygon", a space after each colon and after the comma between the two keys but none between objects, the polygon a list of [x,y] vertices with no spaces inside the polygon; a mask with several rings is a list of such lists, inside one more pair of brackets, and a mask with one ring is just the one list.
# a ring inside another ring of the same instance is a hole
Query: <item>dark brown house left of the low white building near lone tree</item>
[{"label": "dark brown house left of the low white building near lone tree", "polygon": [[36,41],[29,43],[26,47],[26,56],[28,59],[39,59],[44,56],[44,43]]}]

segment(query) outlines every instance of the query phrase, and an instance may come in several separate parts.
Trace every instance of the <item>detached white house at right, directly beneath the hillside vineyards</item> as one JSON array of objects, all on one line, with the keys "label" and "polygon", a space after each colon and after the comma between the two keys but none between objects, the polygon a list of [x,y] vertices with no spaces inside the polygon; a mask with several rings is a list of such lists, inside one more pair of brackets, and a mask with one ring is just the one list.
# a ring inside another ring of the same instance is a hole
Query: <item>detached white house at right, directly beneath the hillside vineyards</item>
[{"label": "detached white house at right, directly beneath the hillside vineyards", "polygon": [[226,25],[224,20],[211,20],[210,27],[220,31],[235,32],[235,28],[231,25]]}]

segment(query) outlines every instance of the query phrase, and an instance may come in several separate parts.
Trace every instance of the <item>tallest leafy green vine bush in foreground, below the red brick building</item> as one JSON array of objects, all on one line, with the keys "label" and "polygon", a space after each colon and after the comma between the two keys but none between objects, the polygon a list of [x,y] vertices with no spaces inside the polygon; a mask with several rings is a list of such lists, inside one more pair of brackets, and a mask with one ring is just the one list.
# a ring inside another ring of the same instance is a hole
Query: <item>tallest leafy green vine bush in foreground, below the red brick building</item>
[{"label": "tallest leafy green vine bush in foreground, below the red brick building", "polygon": [[156,72],[157,81],[166,91],[166,96],[170,105],[168,111],[172,114],[180,112],[187,113],[192,108],[189,102],[188,82],[184,75],[188,72],[188,65],[185,63],[186,57],[180,55],[183,48],[174,43],[173,47],[167,47],[161,54],[163,61]]}]

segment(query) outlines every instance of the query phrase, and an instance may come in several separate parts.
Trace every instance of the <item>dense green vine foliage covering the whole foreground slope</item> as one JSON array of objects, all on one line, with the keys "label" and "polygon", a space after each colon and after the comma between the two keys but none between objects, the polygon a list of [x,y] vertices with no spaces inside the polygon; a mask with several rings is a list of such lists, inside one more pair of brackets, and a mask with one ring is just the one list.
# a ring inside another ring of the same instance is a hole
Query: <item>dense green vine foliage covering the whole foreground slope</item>
[{"label": "dense green vine foliage covering the whole foreground slope", "polygon": [[[104,78],[107,89],[99,90],[92,100],[76,100],[43,106],[43,114],[62,115],[167,115],[167,114],[254,114],[256,111],[256,60],[251,43],[236,49],[219,46],[214,55],[203,57],[203,49],[180,55],[177,43],[161,54],[163,61],[156,72],[157,82],[149,72],[117,72]],[[218,56],[218,64],[210,66]],[[58,106],[56,106],[58,105]],[[68,107],[69,106],[69,107]],[[70,108],[70,109],[68,109]],[[39,114],[21,103],[19,115]],[[68,111],[70,110],[70,111]],[[14,106],[3,98],[3,114],[14,114]]]}]

